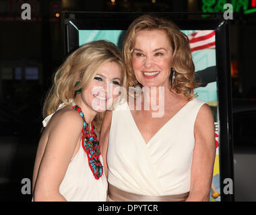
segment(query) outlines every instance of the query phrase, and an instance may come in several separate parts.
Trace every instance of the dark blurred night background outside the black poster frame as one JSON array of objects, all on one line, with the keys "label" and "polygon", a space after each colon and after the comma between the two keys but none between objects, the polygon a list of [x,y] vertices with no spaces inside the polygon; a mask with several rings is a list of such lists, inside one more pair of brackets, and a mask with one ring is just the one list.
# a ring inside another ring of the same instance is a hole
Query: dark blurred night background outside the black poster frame
[{"label": "dark blurred night background outside the black poster frame", "polygon": [[[32,198],[22,194],[22,179],[32,181],[43,99],[63,62],[61,11],[219,12],[231,2],[234,143],[245,155],[245,145],[256,146],[256,0],[0,0],[0,200]],[[31,20],[21,18],[23,3],[31,5]]]}]

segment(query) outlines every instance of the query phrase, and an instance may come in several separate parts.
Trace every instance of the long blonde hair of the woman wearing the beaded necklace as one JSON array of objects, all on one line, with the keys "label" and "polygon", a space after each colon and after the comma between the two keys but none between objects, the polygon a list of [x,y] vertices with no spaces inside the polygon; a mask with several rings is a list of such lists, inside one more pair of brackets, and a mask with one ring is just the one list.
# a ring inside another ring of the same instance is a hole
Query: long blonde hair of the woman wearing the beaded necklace
[{"label": "long blonde hair of the woman wearing the beaded necklace", "polygon": [[[46,95],[42,115],[45,118],[56,112],[61,103],[70,104],[75,98],[75,91],[86,87],[106,62],[117,62],[122,69],[121,85],[126,83],[125,66],[121,50],[112,42],[98,40],[84,44],[71,53],[55,73],[54,83]],[[75,84],[79,81],[79,85]],[[104,113],[98,113],[94,125],[99,131]]]}]

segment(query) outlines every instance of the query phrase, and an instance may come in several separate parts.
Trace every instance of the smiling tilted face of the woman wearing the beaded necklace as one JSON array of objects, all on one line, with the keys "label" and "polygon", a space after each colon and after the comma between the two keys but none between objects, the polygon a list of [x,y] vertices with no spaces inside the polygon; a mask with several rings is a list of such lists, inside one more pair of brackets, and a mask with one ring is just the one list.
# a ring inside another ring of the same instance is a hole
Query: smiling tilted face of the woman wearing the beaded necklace
[{"label": "smiling tilted face of the woman wearing the beaded necklace", "polygon": [[96,76],[82,93],[77,95],[80,100],[82,110],[90,112],[104,112],[111,107],[115,98],[117,98],[121,84],[121,67],[117,62],[106,62],[100,67]]}]

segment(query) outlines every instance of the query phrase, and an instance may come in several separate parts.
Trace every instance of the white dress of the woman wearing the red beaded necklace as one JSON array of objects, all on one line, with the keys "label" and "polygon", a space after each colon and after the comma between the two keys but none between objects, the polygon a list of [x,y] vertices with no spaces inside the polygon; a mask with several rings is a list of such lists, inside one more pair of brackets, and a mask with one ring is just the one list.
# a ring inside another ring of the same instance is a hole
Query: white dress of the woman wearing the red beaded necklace
[{"label": "white dress of the woman wearing the red beaded necklace", "polygon": [[[64,104],[59,105],[58,110],[63,106]],[[52,116],[53,114],[44,119],[42,122],[44,127]],[[103,165],[101,155],[100,161]],[[65,177],[59,187],[59,192],[68,202],[105,202],[107,187],[108,183],[104,173],[100,179],[95,179],[81,142],[77,154],[69,163]]]}]

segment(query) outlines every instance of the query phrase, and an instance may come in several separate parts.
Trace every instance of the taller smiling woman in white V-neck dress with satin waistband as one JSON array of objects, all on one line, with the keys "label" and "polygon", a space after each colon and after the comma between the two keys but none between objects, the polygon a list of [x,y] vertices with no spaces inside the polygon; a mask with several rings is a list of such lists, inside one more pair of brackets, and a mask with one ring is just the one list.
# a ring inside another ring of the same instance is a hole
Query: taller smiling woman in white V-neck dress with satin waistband
[{"label": "taller smiling woman in white V-neck dress with satin waistband", "polygon": [[187,36],[167,19],[143,15],[129,26],[123,47],[128,101],[104,116],[100,135],[109,199],[209,200],[214,119],[195,99]]}]

